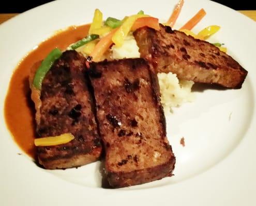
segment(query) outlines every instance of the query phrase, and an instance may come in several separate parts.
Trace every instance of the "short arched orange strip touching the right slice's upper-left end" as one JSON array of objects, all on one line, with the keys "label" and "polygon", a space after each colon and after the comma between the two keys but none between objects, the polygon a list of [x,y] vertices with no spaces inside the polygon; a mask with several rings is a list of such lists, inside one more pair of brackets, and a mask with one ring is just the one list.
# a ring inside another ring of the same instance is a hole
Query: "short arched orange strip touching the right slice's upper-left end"
[{"label": "short arched orange strip touching the right slice's upper-left end", "polygon": [[155,30],[159,30],[160,29],[159,22],[158,22],[157,18],[154,18],[154,17],[142,17],[142,18],[137,19],[134,22],[134,24],[131,27],[131,31],[135,31],[136,29],[144,27],[144,26],[153,28]]}]

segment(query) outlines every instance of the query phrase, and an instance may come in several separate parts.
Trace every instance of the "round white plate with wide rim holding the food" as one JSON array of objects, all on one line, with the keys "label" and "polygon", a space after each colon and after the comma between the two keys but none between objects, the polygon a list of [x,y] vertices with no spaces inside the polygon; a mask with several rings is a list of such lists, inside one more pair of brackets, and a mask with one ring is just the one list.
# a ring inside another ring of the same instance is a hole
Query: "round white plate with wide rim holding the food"
[{"label": "round white plate with wide rim holding the food", "polygon": [[[176,2],[56,1],[0,26],[0,205],[256,204],[256,24],[214,2],[185,1],[176,28],[204,8],[207,15],[193,30],[220,25],[221,30],[209,41],[225,43],[228,53],[249,75],[240,90],[204,88],[196,92],[193,103],[167,115],[168,138],[177,157],[174,177],[107,190],[100,187],[99,162],[65,171],[41,169],[24,155],[6,128],[3,107],[12,72],[22,57],[55,30],[89,23],[95,8],[103,12],[104,18],[122,18],[143,9],[167,19]],[[179,144],[182,136],[185,147]],[[17,155],[19,152],[23,155]]]}]

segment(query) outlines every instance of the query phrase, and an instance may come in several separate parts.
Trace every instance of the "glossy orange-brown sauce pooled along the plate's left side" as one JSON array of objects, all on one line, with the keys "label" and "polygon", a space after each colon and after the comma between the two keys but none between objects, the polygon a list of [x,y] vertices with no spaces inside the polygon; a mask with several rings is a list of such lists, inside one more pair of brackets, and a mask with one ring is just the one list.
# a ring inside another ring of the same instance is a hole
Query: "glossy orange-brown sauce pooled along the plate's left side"
[{"label": "glossy orange-brown sauce pooled along the plate's left side", "polygon": [[88,33],[89,25],[69,27],[57,32],[56,35],[38,45],[17,66],[10,83],[5,99],[5,121],[16,143],[35,158],[35,109],[29,89],[29,72],[31,67],[44,59],[53,48],[65,50],[68,45],[84,38]]}]

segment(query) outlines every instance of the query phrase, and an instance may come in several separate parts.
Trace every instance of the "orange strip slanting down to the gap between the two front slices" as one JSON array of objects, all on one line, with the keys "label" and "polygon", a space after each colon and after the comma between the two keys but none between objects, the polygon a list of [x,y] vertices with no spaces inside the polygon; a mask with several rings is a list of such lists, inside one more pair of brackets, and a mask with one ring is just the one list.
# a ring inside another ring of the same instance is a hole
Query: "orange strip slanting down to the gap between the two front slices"
[{"label": "orange strip slanting down to the gap between the two front slices", "polygon": [[103,37],[95,46],[91,56],[93,61],[100,61],[102,55],[109,49],[111,44],[113,44],[112,37],[116,32],[116,29],[113,29],[107,36]]}]

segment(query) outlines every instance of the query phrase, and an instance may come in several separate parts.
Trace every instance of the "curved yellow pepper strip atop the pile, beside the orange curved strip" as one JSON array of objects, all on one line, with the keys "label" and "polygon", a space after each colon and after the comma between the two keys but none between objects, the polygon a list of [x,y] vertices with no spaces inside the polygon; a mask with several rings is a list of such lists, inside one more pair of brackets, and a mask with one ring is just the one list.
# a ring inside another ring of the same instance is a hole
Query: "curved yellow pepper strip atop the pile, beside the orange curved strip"
[{"label": "curved yellow pepper strip atop the pile, beside the orange curved strip", "polygon": [[145,17],[148,15],[145,14],[135,14],[129,16],[124,23],[118,28],[118,30],[115,32],[115,34],[112,37],[112,41],[115,43],[116,46],[122,46],[125,38],[127,37],[129,31],[131,30],[132,25],[134,22],[142,17]]}]

